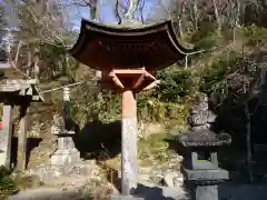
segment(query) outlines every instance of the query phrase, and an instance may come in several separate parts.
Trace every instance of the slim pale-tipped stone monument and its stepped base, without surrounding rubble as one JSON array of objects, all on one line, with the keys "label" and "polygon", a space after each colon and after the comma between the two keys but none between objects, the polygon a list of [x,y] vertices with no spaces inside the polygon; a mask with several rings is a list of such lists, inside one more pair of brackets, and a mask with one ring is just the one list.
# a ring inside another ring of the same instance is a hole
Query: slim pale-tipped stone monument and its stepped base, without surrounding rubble
[{"label": "slim pale-tipped stone monument and its stepped base, without surrounding rubble", "polygon": [[63,129],[58,133],[58,150],[51,156],[51,166],[60,167],[65,171],[69,171],[80,161],[80,152],[76,149],[70,121],[70,91],[63,88]]}]

